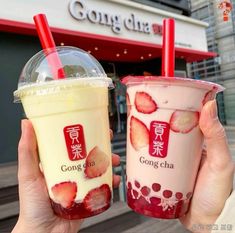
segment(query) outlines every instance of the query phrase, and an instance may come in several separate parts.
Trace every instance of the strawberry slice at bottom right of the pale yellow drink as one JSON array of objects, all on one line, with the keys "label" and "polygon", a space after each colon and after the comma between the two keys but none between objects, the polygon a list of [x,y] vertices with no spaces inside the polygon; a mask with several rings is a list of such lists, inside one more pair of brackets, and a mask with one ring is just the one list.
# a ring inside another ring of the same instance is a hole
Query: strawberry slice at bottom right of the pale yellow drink
[{"label": "strawberry slice at bottom right of the pale yellow drink", "polygon": [[84,198],[84,206],[90,211],[98,211],[110,203],[111,200],[111,190],[109,185],[103,184],[98,188],[94,188],[88,192]]}]

